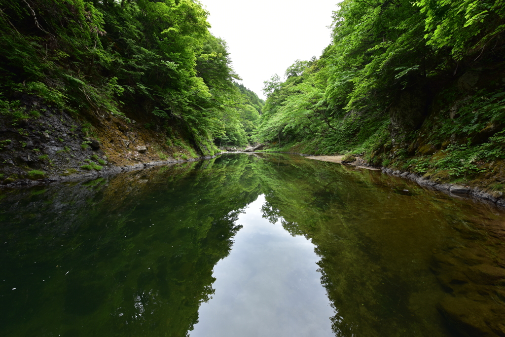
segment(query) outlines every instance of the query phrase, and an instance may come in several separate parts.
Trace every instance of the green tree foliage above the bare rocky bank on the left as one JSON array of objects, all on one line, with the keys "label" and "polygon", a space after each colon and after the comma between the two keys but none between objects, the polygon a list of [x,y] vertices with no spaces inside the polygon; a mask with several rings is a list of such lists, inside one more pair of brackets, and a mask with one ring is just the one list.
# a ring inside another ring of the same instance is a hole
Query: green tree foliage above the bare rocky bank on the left
[{"label": "green tree foliage above the bare rocky bank on the left", "polygon": [[27,92],[76,113],[176,125],[196,146],[228,141],[226,128],[246,134],[231,142],[250,140],[226,43],[199,2],[0,3],[1,113],[27,118],[16,94]]}]

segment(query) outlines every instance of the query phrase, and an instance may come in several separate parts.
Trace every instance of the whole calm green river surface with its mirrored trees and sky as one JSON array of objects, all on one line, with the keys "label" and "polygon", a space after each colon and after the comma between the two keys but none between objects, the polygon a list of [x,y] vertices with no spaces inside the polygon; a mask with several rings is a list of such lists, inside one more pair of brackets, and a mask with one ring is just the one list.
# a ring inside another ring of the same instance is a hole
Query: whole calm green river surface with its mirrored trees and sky
[{"label": "whole calm green river surface with its mirrored trees and sky", "polygon": [[2,336],[505,335],[503,210],[222,156],[0,192]]}]

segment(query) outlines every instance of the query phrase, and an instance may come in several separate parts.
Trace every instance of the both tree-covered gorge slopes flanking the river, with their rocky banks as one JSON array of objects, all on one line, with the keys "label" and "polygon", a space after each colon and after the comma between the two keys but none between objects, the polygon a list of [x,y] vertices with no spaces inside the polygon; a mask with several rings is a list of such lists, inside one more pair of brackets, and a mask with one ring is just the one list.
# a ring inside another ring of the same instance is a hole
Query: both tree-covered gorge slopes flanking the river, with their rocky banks
[{"label": "both tree-covered gorge slopes flanking the river, with their rocky banks", "polygon": [[262,141],[503,189],[505,1],[345,0],[332,43],[266,81],[266,103],[207,16],[191,0],[0,0],[0,179]]}]

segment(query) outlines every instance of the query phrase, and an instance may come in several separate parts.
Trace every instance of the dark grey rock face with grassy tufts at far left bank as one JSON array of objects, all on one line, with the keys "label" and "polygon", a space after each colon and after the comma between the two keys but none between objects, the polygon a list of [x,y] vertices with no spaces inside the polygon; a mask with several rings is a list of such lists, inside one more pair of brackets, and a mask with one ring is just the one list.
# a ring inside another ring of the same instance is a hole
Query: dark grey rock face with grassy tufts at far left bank
[{"label": "dark grey rock face with grassy tufts at far left bank", "polygon": [[[86,160],[104,158],[103,146],[87,137],[85,128],[65,111],[43,103],[33,95],[16,97],[37,114],[17,120],[0,115],[0,183],[24,182],[27,172],[40,170],[48,176],[82,172]],[[97,164],[97,163],[96,163]]]}]

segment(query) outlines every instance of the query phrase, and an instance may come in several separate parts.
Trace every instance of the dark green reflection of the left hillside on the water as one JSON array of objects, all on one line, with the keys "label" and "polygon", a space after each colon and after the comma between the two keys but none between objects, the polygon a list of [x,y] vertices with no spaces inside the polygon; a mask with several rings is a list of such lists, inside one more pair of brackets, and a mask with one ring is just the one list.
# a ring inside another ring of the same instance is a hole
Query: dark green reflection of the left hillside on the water
[{"label": "dark green reflection of the left hillside on the water", "polygon": [[185,336],[259,193],[246,162],[214,164],[8,194],[0,334]]}]

